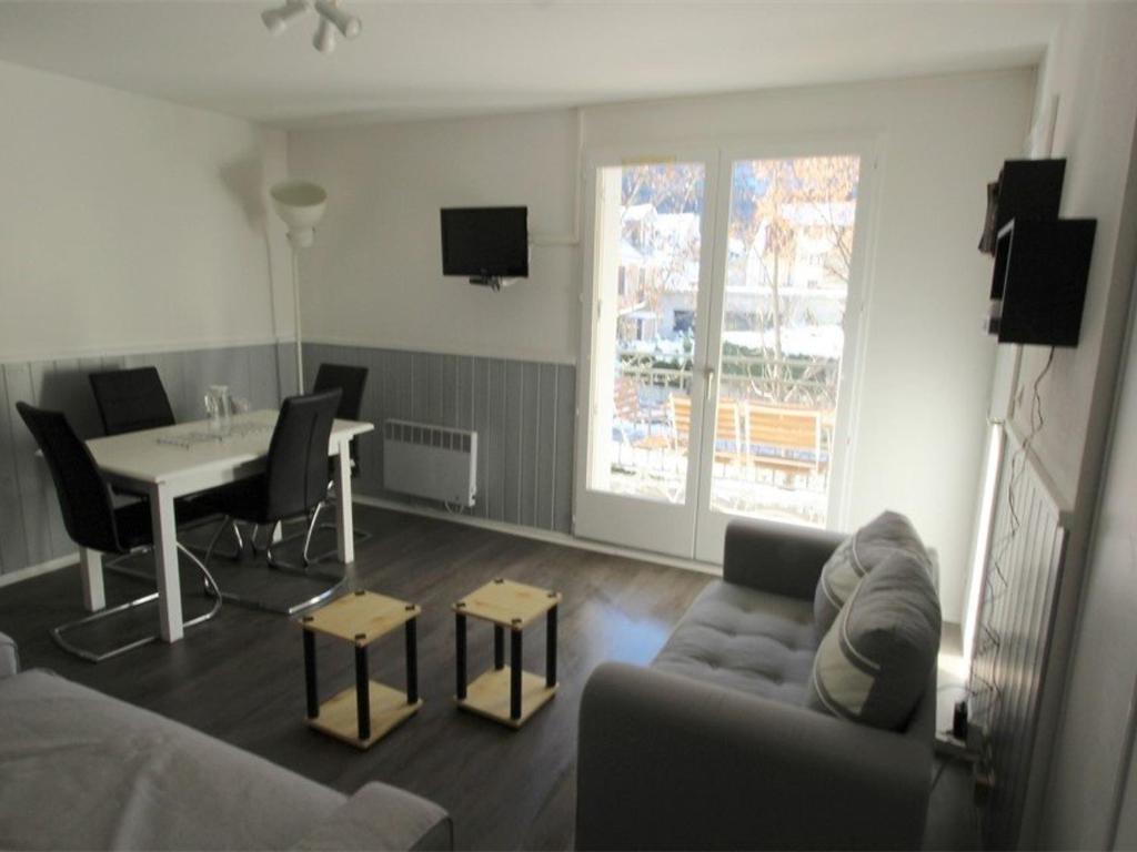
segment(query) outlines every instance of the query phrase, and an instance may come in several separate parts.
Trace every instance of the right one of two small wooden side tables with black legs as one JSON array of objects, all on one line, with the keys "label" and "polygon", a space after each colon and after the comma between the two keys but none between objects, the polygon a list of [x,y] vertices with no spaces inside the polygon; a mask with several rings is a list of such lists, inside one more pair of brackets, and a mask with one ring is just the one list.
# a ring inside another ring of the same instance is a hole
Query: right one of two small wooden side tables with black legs
[{"label": "right one of two small wooden side tables with black legs", "polygon": [[[557,605],[561,594],[508,579],[495,579],[454,604],[457,635],[458,707],[520,728],[557,692]],[[522,669],[522,632],[545,616],[545,677]],[[466,683],[466,619],[493,625],[493,668]],[[505,632],[509,629],[509,665]]]}]

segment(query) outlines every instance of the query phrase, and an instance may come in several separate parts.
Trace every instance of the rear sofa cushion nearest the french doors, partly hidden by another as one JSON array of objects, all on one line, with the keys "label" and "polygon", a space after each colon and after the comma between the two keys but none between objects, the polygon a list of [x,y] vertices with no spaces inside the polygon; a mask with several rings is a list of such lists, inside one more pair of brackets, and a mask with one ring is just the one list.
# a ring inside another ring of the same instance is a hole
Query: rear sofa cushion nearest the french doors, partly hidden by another
[{"label": "rear sofa cushion nearest the french doors, partly hidden by another", "polygon": [[838,545],[822,567],[813,594],[813,618],[819,641],[832,627],[837,613],[861,578],[895,551],[923,561],[930,570],[923,542],[912,521],[899,512],[881,512]]}]

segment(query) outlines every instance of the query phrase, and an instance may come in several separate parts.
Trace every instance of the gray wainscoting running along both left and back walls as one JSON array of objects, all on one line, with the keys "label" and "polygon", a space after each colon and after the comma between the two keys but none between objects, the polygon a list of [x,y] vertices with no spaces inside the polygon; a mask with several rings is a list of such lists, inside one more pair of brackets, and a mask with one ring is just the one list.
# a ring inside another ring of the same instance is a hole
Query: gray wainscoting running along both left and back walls
[{"label": "gray wainscoting running along both left and back walls", "polygon": [[[211,384],[230,385],[254,408],[273,408],[296,391],[294,352],[292,344],[266,344],[0,366],[0,574],[75,550],[17,401],[63,410],[81,436],[94,437],[101,425],[88,374],[153,365],[179,420],[204,416]],[[476,431],[479,494],[467,513],[571,532],[574,367],[326,344],[305,344],[304,360],[308,389],[322,361],[367,367],[363,417],[376,425],[402,418]],[[359,493],[424,502],[383,490],[376,434],[360,438],[359,450]]]}]

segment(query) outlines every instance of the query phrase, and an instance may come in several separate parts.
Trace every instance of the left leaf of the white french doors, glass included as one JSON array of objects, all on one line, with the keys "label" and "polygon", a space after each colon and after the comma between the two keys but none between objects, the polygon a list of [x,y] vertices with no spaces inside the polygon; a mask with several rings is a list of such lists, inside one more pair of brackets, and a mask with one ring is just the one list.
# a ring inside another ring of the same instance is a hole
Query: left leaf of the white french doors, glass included
[{"label": "left leaf of the white french doors, glass included", "polygon": [[717,176],[713,149],[589,158],[578,535],[694,552]]}]

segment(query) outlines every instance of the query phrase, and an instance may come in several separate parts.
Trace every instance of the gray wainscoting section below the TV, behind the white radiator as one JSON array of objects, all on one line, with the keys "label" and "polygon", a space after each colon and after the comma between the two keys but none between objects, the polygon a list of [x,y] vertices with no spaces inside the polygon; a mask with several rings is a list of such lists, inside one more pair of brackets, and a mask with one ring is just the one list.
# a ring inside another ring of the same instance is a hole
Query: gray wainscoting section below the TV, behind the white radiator
[{"label": "gray wainscoting section below the TV, behind the white radiator", "polygon": [[[571,532],[575,367],[306,343],[306,386],[324,361],[367,367],[363,418],[376,426],[395,418],[478,432],[478,501],[466,513]],[[384,491],[377,433],[359,450],[360,494],[439,508]]]}]

